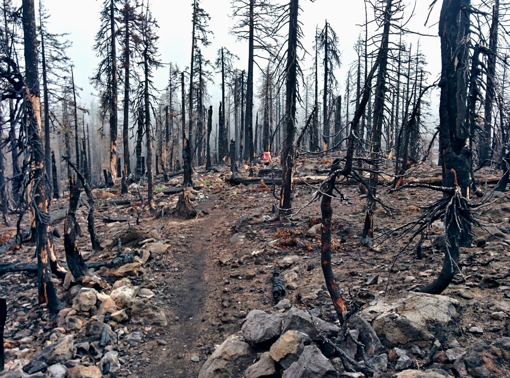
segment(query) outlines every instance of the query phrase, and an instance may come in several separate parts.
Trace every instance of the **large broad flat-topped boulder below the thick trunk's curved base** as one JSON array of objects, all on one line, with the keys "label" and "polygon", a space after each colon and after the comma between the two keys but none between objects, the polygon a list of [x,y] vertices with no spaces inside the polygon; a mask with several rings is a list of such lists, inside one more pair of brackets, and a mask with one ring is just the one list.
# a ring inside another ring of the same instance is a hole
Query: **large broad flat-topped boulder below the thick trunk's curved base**
[{"label": "large broad flat-topped boulder below the thick trunk's curved base", "polygon": [[390,345],[425,345],[443,333],[456,318],[459,306],[457,300],[443,295],[412,293],[396,302],[380,301],[369,306],[362,316]]}]

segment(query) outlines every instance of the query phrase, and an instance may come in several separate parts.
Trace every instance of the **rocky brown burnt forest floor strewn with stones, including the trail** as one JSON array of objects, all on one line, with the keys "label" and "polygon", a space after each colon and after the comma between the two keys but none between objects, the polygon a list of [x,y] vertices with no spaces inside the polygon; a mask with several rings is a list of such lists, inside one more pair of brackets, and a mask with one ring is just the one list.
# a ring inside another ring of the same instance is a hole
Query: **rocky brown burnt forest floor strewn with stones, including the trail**
[{"label": "rocky brown burnt forest floor strewn with stones, including the trail", "polygon": [[[323,176],[330,162],[301,158],[296,181]],[[487,170],[477,177],[498,174]],[[240,175],[247,178],[247,167]],[[408,180],[438,176],[436,167],[423,165]],[[181,177],[157,183],[159,211],[142,209],[139,225],[135,187],[127,196],[96,190],[105,250],[89,256],[83,206],[78,218],[84,257],[110,262],[120,238],[121,252],[135,252],[134,259],[94,269],[99,281],[77,283],[70,275],[65,282],[56,280],[66,306],[56,318],[37,304],[34,272],[1,275],[0,296],[9,309],[2,377],[364,376],[346,372],[341,352],[322,336],[338,341],[358,362],[362,355],[355,341],[365,344],[368,365],[379,376],[510,375],[510,252],[503,232],[510,201],[503,194],[477,209],[480,221],[491,226],[474,229],[454,285],[442,296],[427,296],[415,290],[441,269],[441,222],[433,224],[422,258],[415,249],[397,256],[405,244],[399,233],[368,250],[360,246],[366,198],[357,185],[341,183],[345,200],[333,205],[333,268],[348,303],[352,296],[363,311],[351,321],[352,337],[336,340],[343,328],[319,264],[320,203],[309,203],[315,188],[296,185],[293,204],[299,211],[282,221],[271,214],[276,200],[269,178],[232,186],[229,177],[226,167],[195,175],[191,199],[203,212],[186,221],[169,215],[179,195],[165,193],[179,187]],[[490,184],[482,182],[482,188],[491,191]],[[417,218],[420,207],[439,196],[418,188],[386,195],[395,209],[391,215],[376,210],[375,233]],[[66,199],[54,202],[55,214],[65,205]],[[55,226],[63,233],[62,221]],[[7,229],[2,239],[13,232]],[[56,239],[58,257],[65,261],[62,243]],[[0,264],[34,261],[30,243],[0,255]],[[276,306],[275,267],[286,286]],[[323,321],[312,322],[312,316]]]}]

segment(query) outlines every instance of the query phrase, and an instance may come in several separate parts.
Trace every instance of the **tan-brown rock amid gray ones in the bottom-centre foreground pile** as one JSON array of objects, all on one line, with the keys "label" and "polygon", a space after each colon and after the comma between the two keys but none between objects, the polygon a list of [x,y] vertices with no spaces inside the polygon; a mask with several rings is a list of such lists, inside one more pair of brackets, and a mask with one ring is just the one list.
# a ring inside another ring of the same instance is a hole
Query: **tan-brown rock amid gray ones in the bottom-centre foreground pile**
[{"label": "tan-brown rock amid gray ones in the bottom-centre foreground pile", "polygon": [[288,330],[271,345],[271,358],[287,369],[299,359],[305,344],[310,344],[310,337],[297,330]]}]

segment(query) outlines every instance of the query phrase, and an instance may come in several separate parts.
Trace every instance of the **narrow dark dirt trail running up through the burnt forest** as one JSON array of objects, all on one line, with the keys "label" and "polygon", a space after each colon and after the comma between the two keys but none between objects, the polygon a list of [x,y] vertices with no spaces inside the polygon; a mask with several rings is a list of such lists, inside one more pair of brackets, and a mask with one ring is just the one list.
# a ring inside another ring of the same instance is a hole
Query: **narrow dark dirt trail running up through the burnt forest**
[{"label": "narrow dark dirt trail running up through the burnt forest", "polygon": [[[193,377],[198,375],[203,364],[200,348],[202,343],[207,343],[201,335],[209,320],[206,309],[211,310],[208,306],[210,288],[220,283],[216,281],[221,281],[221,277],[210,274],[215,262],[208,249],[212,246],[213,232],[222,223],[221,210],[214,209],[214,202],[210,197],[199,206],[210,215],[181,223],[183,233],[177,237],[183,239],[182,247],[171,251],[173,259],[160,269],[166,285],[155,290],[161,298],[156,304],[166,312],[168,325],[153,327],[149,337],[156,335],[154,340],[137,348],[146,366],[135,369],[135,376]],[[175,238],[176,234],[166,236]],[[161,345],[164,344],[162,341],[168,344]],[[200,361],[193,362],[193,356],[200,356]]]}]

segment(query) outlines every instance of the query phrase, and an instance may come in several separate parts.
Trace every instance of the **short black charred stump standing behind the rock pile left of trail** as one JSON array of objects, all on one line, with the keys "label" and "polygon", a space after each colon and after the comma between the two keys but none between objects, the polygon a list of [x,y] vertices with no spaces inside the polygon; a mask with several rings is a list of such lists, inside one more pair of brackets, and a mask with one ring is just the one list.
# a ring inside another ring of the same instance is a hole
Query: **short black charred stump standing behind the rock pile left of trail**
[{"label": "short black charred stump standing behind the rock pile left of trail", "polygon": [[89,270],[85,266],[83,257],[78,249],[77,233],[76,233],[76,209],[80,200],[80,188],[76,185],[74,175],[69,177],[69,208],[67,209],[64,221],[64,248],[67,261],[67,267],[75,280],[83,276],[90,275]]}]

